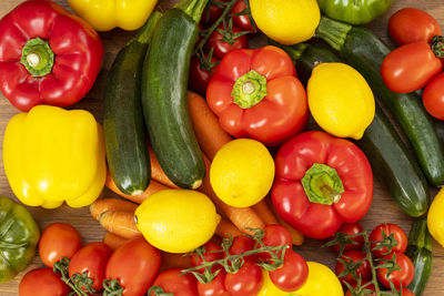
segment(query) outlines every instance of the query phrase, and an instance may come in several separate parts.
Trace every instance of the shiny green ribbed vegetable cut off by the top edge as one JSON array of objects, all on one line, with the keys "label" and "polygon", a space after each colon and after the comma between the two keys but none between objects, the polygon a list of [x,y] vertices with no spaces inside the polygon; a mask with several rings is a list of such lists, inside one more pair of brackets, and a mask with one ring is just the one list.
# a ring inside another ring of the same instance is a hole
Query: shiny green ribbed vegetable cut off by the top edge
[{"label": "shiny green ribbed vegetable cut off by the top edge", "polygon": [[324,14],[351,24],[364,24],[381,16],[393,0],[317,0]]}]

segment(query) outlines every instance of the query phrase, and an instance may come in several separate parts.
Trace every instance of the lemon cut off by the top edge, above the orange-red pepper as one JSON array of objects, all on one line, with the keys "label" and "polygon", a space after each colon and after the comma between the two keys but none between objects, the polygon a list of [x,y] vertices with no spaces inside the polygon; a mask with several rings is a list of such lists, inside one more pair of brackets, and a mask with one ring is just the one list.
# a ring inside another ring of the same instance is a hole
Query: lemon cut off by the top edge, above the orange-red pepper
[{"label": "lemon cut off by the top edge, above the orange-red pepper", "polygon": [[281,44],[311,39],[321,20],[316,0],[250,0],[250,8],[258,28]]}]

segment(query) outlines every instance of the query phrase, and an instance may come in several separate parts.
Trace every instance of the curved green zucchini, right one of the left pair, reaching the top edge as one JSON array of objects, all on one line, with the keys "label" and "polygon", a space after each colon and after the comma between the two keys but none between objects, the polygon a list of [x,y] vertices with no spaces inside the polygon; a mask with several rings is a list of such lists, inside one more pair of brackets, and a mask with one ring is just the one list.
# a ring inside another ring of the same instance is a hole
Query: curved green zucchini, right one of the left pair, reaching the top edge
[{"label": "curved green zucchini, right one of the left pair, reaching the top edge", "polygon": [[151,145],[167,176],[196,188],[205,175],[186,104],[190,59],[208,0],[188,0],[160,19],[143,63],[142,105]]}]

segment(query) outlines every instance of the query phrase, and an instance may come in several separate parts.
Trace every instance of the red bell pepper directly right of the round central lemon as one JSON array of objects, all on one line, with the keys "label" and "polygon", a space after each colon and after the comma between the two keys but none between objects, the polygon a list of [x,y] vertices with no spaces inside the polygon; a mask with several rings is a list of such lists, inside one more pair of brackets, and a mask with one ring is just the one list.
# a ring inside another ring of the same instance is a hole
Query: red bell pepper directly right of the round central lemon
[{"label": "red bell pepper directly right of the round central lemon", "polygon": [[372,169],[347,140],[319,131],[299,134],[279,150],[275,167],[273,205],[307,237],[330,237],[342,223],[361,220],[372,203]]}]

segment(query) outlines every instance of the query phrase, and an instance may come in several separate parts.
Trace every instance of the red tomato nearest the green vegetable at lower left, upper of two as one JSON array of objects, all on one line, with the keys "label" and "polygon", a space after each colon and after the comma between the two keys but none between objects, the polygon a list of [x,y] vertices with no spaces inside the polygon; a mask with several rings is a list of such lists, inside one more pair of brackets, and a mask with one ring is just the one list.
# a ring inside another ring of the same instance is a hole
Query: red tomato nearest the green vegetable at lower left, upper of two
[{"label": "red tomato nearest the green vegetable at lower left, upper of two", "polygon": [[79,232],[69,224],[53,223],[44,228],[40,242],[39,254],[48,267],[63,257],[71,258],[82,247]]}]

